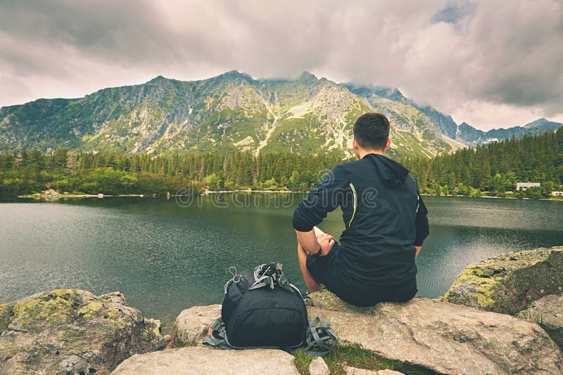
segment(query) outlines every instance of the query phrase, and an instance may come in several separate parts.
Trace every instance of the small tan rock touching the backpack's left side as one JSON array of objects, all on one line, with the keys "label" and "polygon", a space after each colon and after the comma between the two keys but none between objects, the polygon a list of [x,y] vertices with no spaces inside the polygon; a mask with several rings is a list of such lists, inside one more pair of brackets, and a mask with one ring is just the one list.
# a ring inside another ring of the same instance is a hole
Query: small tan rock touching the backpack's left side
[{"label": "small tan rock touching the backpack's left side", "polygon": [[174,322],[172,342],[176,345],[201,342],[210,334],[211,324],[221,316],[221,305],[194,306],[183,310]]}]

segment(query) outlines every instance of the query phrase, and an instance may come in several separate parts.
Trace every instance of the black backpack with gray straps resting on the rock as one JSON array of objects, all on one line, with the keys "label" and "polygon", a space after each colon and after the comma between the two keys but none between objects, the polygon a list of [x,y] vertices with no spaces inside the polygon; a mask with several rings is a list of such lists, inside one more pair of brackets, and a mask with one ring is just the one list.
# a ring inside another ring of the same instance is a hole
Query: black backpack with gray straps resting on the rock
[{"label": "black backpack with gray straps resting on the rock", "polygon": [[281,268],[281,263],[262,264],[241,274],[229,268],[233,277],[224,287],[221,317],[203,343],[224,349],[303,347],[311,355],[329,353],[338,336],[318,317],[309,324],[303,296]]}]

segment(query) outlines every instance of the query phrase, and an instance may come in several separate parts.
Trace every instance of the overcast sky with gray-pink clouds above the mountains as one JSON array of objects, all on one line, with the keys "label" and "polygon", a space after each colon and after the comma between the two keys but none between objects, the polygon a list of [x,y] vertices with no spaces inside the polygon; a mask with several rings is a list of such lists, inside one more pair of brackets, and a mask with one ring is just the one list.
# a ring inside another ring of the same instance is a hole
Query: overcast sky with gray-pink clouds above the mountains
[{"label": "overcast sky with gray-pink clouds above the mountains", "polygon": [[563,121],[563,1],[0,0],[0,106],[228,70],[398,87],[479,129]]}]

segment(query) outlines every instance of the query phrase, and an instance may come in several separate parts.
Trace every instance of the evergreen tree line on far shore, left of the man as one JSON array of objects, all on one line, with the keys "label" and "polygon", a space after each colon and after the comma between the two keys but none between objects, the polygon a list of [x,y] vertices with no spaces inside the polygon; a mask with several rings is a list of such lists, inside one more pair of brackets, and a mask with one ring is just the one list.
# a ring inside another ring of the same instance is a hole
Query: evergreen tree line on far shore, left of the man
[{"label": "evergreen tree line on far shore, left of the man", "polygon": [[52,154],[23,150],[0,154],[0,196],[46,189],[71,194],[156,194],[209,190],[295,190],[314,187],[337,157],[260,154]]}]

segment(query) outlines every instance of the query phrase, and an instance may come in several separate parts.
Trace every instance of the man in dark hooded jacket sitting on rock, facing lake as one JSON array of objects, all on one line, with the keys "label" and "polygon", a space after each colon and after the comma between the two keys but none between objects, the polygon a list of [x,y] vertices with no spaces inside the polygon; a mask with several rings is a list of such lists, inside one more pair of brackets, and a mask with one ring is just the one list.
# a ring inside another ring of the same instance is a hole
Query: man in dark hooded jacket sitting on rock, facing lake
[{"label": "man in dark hooded jacket sitting on rock, facing lake", "polygon": [[[388,119],[363,114],[353,131],[359,160],[335,166],[293,212],[303,279],[310,293],[324,284],[353,305],[408,301],[429,235],[426,207],[405,166],[384,156]],[[340,243],[315,227],[338,206],[346,225]]]}]

